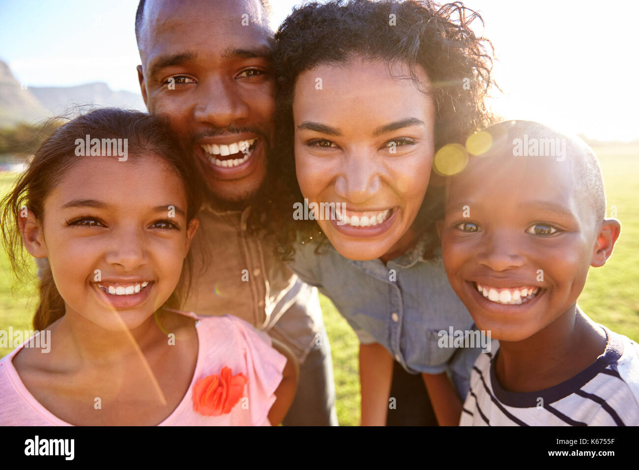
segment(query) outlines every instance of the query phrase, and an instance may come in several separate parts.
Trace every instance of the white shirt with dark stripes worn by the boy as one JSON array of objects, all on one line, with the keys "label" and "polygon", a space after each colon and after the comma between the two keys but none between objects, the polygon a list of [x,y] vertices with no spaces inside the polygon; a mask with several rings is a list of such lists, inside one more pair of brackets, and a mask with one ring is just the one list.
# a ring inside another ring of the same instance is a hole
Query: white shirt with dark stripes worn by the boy
[{"label": "white shirt with dark stripes worn by the boy", "polygon": [[606,349],[580,373],[541,391],[513,393],[495,375],[499,343],[480,354],[460,426],[639,426],[639,346],[603,325]]}]

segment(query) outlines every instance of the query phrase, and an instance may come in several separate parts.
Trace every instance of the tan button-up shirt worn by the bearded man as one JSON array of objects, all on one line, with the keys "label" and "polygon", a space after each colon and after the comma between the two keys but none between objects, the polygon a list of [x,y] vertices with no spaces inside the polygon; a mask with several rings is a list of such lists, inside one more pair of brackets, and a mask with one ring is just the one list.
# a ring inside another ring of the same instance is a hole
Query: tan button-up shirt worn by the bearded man
[{"label": "tan button-up shirt worn by the bearded man", "polygon": [[273,253],[274,240],[247,233],[249,210],[203,205],[191,244],[192,285],[182,309],[240,317],[288,346],[301,364],[324,328],[317,289]]}]

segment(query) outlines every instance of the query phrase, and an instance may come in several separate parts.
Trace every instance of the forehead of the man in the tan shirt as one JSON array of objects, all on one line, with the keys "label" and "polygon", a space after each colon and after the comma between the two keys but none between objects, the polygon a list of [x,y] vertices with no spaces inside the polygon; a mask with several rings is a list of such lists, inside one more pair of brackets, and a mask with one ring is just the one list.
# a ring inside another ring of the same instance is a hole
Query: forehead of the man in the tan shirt
[{"label": "forehead of the man in the tan shirt", "polygon": [[272,32],[258,0],[147,1],[141,55],[151,63],[161,54],[195,52],[219,58],[230,48],[268,47]]}]

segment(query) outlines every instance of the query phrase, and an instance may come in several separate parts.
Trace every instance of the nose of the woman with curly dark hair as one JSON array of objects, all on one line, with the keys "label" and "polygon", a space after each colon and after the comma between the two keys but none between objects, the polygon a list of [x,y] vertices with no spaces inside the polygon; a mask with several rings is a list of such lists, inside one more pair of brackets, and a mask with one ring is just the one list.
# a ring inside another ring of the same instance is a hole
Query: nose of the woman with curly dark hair
[{"label": "nose of the woman with curly dark hair", "polygon": [[335,178],[335,194],[353,203],[370,200],[381,189],[380,168],[366,150],[349,153]]}]

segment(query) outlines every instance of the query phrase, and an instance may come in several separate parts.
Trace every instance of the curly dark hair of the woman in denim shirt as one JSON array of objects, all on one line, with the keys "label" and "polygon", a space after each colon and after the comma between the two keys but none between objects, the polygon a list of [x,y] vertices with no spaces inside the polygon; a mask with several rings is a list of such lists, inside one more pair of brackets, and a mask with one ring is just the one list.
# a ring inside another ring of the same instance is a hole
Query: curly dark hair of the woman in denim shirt
[{"label": "curly dark hair of the woman in denim shirt", "polygon": [[[395,24],[391,24],[392,14]],[[481,16],[461,2],[333,0],[305,4],[284,20],[275,33],[273,51],[279,94],[277,145],[269,158],[279,169],[279,185],[288,198],[279,202],[281,210],[288,212],[275,217],[278,251],[285,260],[293,258],[300,239],[312,237],[320,245],[327,240],[316,221],[291,217],[293,203],[304,200],[293,150],[293,93],[299,75],[318,65],[341,65],[356,57],[385,61],[389,71],[399,61],[408,65],[419,87],[415,68],[420,66],[429,77],[435,103],[435,150],[465,143],[469,134],[496,120],[486,105],[489,91],[497,88],[491,77],[493,45],[473,33],[470,24],[476,19],[483,25]],[[465,82],[470,86],[464,86]],[[422,233],[434,233],[442,206],[442,185],[430,184],[417,215]],[[423,256],[429,258],[433,248],[425,247]]]}]

